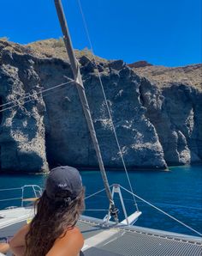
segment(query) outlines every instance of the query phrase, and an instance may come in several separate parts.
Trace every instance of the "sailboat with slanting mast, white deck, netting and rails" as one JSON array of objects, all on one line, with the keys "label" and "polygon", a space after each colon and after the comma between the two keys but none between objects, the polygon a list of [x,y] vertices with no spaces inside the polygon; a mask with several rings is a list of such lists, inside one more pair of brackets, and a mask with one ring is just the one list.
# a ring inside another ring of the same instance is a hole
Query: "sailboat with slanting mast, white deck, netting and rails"
[{"label": "sailboat with slanting mast, white deck, netting and rails", "polygon": [[[109,185],[107,174],[104,168],[104,162],[99,149],[98,139],[92,122],[90,108],[86,99],[85,88],[80,75],[80,67],[78,61],[75,58],[73,46],[68,33],[67,21],[62,9],[61,0],[55,0],[56,12],[58,19],[62,27],[63,40],[68,52],[68,58],[71,64],[71,68],[74,74],[74,84],[78,89],[78,94],[80,96],[80,102],[83,107],[83,112],[86,117],[86,123],[88,125],[92,142],[96,150],[98,157],[98,165],[100,168],[100,173],[104,181],[104,190],[106,192],[107,198],[109,200],[109,210],[108,214],[102,219],[98,219],[90,216],[80,216],[80,221],[78,226],[85,237],[85,245],[82,248],[82,252],[86,256],[90,255],[104,255],[104,256],[150,256],[150,255],[201,255],[202,253],[202,241],[200,234],[197,230],[192,229],[183,222],[178,221],[175,217],[170,216],[163,210],[158,209],[156,206],[150,204],[145,199],[138,197],[131,185],[127,168],[122,157],[122,150],[120,149],[118,137],[116,136],[116,130],[113,125],[113,120],[110,115],[110,108],[108,106],[105,94],[104,100],[110,119],[112,122],[112,128],[115,134],[116,143],[119,149],[119,154],[122,159],[123,168],[126,172],[128,184],[130,190],[124,188],[119,184]],[[102,86],[102,81],[99,76],[99,81]],[[104,88],[103,88],[104,92]],[[25,222],[29,221],[33,217],[33,207],[25,207],[26,202],[33,202],[35,198],[38,198],[42,193],[39,186],[35,185],[25,185],[21,188],[21,207],[9,207],[6,210],[0,210],[0,239],[7,241],[9,237],[15,234],[17,229],[19,229]],[[27,189],[33,190],[33,198],[26,197]],[[10,189],[8,189],[10,190]],[[14,190],[14,189],[13,189]],[[124,200],[122,198],[122,190],[130,193],[134,198],[134,213],[128,216]],[[5,192],[6,190],[2,190]],[[0,191],[1,192],[1,191]],[[95,192],[91,196],[97,194]],[[122,205],[122,212],[124,214],[124,219],[119,219],[119,210],[116,207],[114,201],[114,195],[118,194]],[[89,196],[88,198],[90,198]],[[136,198],[143,200],[146,204],[150,204],[152,207],[160,210],[163,214],[171,217],[182,225],[191,229],[197,234],[197,236],[191,235],[181,235],[178,233],[171,233],[156,229],[146,229],[143,227],[134,226],[134,223],[141,216],[142,212],[136,203]],[[13,199],[13,198],[12,198]],[[8,254],[9,255],[9,254]]]}]

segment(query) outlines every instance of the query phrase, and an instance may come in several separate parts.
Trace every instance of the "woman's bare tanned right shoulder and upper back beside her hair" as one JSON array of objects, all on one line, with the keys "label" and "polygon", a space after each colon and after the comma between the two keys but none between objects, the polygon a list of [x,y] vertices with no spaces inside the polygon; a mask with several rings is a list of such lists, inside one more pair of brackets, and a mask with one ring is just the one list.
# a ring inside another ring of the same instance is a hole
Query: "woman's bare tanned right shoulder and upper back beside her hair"
[{"label": "woman's bare tanned right shoulder and upper back beside her hair", "polygon": [[84,238],[80,229],[68,229],[64,235],[56,239],[53,247],[46,256],[76,256],[83,247]]}]

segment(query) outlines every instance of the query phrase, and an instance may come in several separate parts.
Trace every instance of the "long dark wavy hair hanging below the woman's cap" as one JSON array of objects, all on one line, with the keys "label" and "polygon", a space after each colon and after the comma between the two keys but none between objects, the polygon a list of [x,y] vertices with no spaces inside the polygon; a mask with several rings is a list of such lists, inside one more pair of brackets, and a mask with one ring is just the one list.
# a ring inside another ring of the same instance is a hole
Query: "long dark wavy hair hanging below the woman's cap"
[{"label": "long dark wavy hair hanging below the woman's cap", "polygon": [[24,256],[45,256],[54,241],[74,227],[85,207],[84,192],[83,188],[79,196],[70,202],[65,192],[56,196],[56,200],[43,192],[35,204],[36,215],[26,235]]}]

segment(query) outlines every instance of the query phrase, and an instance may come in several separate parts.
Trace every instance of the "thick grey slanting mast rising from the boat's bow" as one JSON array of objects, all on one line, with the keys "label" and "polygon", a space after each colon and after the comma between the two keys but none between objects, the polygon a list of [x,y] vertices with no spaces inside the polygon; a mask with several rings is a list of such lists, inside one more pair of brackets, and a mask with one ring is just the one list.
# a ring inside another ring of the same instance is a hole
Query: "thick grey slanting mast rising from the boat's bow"
[{"label": "thick grey slanting mast rising from the boat's bow", "polygon": [[72,42],[71,42],[71,39],[70,39],[70,36],[68,33],[68,24],[67,24],[67,21],[65,19],[65,15],[64,15],[64,12],[62,9],[62,3],[61,3],[61,0],[54,0],[54,1],[55,1],[55,6],[56,6],[57,16],[58,16],[58,19],[60,21],[60,25],[62,28],[64,44],[66,46],[66,50],[68,52],[68,58],[69,58],[69,61],[71,64],[73,74],[74,74],[74,81],[76,82],[76,88],[77,88],[78,94],[80,96],[80,101],[81,101],[83,111],[84,111],[84,114],[86,117],[88,129],[89,129],[91,137],[92,137],[92,143],[94,145],[94,148],[96,150],[96,155],[98,157],[98,165],[99,165],[99,169],[100,169],[103,181],[104,181],[104,187],[105,187],[105,190],[107,193],[107,197],[109,198],[109,201],[110,201],[110,215],[114,217],[116,222],[118,222],[118,217],[117,217],[118,210],[115,207],[114,200],[113,200],[111,192],[110,192],[110,186],[109,186],[109,182],[108,182],[107,175],[105,172],[104,162],[103,162],[102,155],[101,155],[101,152],[99,149],[98,139],[97,139],[94,125],[92,122],[90,108],[89,108],[89,105],[88,105],[88,102],[86,99],[85,88],[83,86],[83,81],[82,81],[82,78],[80,75],[79,63],[74,55]]}]

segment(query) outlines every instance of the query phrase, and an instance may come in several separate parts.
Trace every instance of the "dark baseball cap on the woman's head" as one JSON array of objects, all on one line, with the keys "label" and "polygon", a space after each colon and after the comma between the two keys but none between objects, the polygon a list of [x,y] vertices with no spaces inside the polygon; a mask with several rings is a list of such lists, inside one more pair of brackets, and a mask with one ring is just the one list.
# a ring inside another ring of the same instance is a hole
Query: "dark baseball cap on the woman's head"
[{"label": "dark baseball cap on the woman's head", "polygon": [[82,180],[76,168],[60,166],[50,170],[46,180],[45,192],[48,198],[55,199],[60,192],[67,192],[74,200],[82,190]]}]

